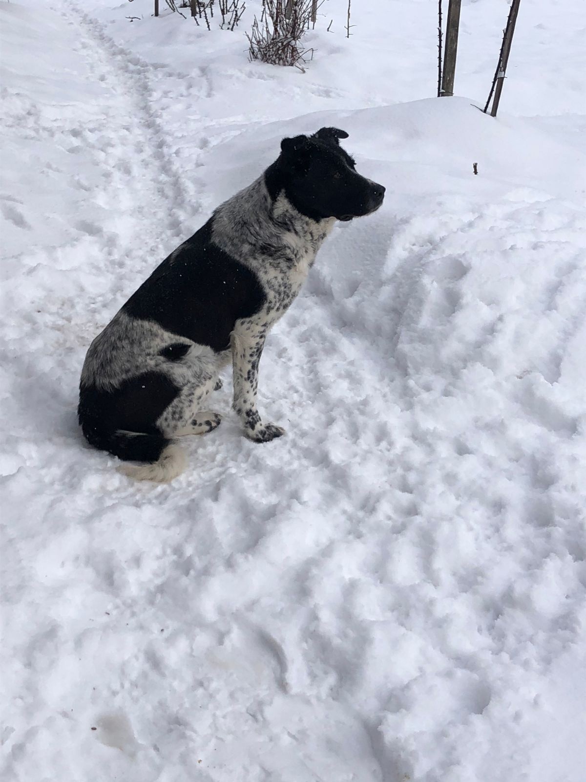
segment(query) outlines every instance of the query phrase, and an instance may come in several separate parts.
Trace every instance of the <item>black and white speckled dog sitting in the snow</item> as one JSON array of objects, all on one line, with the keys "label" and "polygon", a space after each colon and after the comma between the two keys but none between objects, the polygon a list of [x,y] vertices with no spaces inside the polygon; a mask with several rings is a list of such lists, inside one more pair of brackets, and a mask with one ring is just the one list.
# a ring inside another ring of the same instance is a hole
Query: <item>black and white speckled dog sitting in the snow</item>
[{"label": "black and white speckled dog sitting in the snow", "polygon": [[256,410],[266,335],[297,296],[337,220],[370,214],[384,187],[356,172],[345,131],[284,138],[277,160],[213,213],[135,292],[88,350],[78,415],[92,446],[136,479],[183,471],[173,439],[210,432],[209,394],[230,362],[245,435],[266,443],[284,429]]}]

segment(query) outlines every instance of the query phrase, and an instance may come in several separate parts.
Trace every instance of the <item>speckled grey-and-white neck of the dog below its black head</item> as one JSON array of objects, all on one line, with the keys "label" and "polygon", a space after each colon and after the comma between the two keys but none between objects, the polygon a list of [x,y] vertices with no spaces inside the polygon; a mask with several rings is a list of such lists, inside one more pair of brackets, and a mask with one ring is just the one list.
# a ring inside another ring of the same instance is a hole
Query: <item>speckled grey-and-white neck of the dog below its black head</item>
[{"label": "speckled grey-and-white neck of the dog below its black head", "polygon": [[213,213],[212,239],[233,258],[295,267],[313,264],[335,218],[313,220],[300,213],[283,191],[273,197],[265,175]]}]

